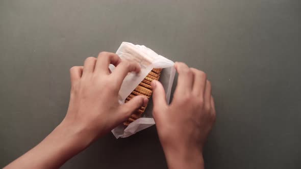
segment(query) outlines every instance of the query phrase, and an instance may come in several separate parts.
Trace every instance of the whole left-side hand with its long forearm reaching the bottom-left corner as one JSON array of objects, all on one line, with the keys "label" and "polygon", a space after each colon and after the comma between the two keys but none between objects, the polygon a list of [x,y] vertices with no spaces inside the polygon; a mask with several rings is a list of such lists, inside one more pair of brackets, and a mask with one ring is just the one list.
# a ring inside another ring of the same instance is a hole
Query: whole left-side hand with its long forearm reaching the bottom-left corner
[{"label": "whole left-side hand with its long forearm reaching the bottom-left corner", "polygon": [[[113,73],[110,64],[116,66]],[[40,144],[5,168],[58,168],[97,137],[126,121],[148,101],[136,96],[126,104],[118,103],[121,83],[132,71],[140,71],[137,63],[121,61],[117,54],[108,52],[99,53],[97,59],[87,58],[83,67],[72,67],[66,117]]]}]

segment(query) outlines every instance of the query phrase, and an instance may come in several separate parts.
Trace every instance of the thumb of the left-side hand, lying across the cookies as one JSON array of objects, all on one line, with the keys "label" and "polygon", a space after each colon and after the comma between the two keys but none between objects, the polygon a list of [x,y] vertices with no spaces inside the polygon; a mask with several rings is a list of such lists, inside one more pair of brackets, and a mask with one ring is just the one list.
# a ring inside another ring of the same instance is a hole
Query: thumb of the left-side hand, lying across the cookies
[{"label": "thumb of the left-side hand, lying across the cookies", "polygon": [[144,96],[135,96],[130,101],[120,106],[119,117],[121,117],[121,122],[126,121],[135,110],[139,109],[141,106],[146,106],[148,99]]}]

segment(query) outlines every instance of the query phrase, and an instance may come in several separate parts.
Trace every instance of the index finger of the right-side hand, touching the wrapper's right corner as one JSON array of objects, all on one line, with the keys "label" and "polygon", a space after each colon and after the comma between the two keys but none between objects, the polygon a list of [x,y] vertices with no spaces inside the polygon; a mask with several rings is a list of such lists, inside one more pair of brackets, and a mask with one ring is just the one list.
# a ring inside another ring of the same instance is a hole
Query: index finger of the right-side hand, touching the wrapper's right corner
[{"label": "index finger of the right-side hand, touching the wrapper's right corner", "polygon": [[191,92],[193,84],[193,72],[186,64],[182,62],[176,62],[174,67],[179,73],[178,85],[175,89],[177,93],[179,92],[180,94],[186,94],[187,92]]}]

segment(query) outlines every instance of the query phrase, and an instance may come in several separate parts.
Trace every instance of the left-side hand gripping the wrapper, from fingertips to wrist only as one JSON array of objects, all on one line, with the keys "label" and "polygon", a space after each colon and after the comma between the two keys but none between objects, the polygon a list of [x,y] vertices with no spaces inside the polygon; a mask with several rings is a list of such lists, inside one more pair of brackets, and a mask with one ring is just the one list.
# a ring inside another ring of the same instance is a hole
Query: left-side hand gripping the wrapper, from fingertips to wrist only
[{"label": "left-side hand gripping the wrapper, from fingertips to wrist only", "polygon": [[[109,65],[116,66],[114,72]],[[70,69],[71,92],[67,115],[62,123],[84,133],[92,142],[120,123],[135,109],[147,104],[147,98],[137,96],[126,104],[118,103],[121,83],[129,72],[139,72],[137,63],[121,61],[117,54],[101,52],[98,58],[87,58],[84,66]]]}]

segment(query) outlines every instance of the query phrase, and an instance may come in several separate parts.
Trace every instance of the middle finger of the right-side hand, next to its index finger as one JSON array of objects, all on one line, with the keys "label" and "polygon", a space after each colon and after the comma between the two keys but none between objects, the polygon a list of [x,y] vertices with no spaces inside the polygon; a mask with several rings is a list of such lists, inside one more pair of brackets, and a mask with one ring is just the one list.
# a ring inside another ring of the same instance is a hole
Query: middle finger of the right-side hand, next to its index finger
[{"label": "middle finger of the right-side hand, next to its index finger", "polygon": [[203,71],[197,70],[195,68],[190,68],[193,72],[194,82],[192,87],[192,92],[197,96],[204,96],[207,75]]}]

